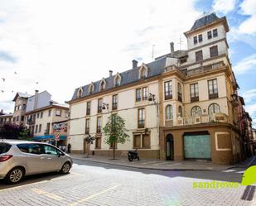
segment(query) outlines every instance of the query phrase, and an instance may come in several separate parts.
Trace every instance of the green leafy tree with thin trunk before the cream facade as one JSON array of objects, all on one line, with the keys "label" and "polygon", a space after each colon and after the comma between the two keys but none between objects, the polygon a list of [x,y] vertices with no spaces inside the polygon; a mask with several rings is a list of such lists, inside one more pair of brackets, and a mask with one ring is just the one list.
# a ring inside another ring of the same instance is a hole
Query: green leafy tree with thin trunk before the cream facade
[{"label": "green leafy tree with thin trunk before the cream facade", "polygon": [[113,159],[115,159],[116,144],[123,144],[128,141],[127,129],[125,128],[125,121],[117,114],[111,114],[108,118],[108,122],[103,128],[105,139],[104,142],[109,146],[113,146]]}]

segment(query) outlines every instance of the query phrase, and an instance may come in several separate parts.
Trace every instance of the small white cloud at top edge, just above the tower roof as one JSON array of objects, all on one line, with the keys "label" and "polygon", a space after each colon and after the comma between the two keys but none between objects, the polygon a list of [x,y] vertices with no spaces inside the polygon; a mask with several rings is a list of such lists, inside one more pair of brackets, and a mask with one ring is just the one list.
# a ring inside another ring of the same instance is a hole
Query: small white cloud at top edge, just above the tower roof
[{"label": "small white cloud at top edge, just above the tower roof", "polygon": [[213,2],[213,9],[215,12],[221,12],[227,14],[234,10],[236,0],[215,0]]}]

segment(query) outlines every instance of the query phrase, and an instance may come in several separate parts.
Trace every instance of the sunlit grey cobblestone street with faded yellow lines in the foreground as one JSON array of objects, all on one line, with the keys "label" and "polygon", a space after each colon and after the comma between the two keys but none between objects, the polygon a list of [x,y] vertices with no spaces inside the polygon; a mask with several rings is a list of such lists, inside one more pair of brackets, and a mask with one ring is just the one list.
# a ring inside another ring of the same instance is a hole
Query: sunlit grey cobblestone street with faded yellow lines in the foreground
[{"label": "sunlit grey cobblestone street with faded yellow lines in the foreground", "polygon": [[17,185],[1,181],[0,204],[256,205],[255,186],[193,189],[193,182],[240,182],[243,172],[139,170],[75,160],[69,175],[36,175]]}]

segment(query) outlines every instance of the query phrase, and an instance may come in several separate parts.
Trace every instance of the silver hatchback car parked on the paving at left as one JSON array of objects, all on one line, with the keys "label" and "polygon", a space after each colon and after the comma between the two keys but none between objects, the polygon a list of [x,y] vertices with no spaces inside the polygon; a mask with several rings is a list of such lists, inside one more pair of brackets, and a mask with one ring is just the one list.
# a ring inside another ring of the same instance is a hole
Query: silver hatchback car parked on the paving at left
[{"label": "silver hatchback car parked on the paving at left", "polygon": [[36,141],[0,141],[0,179],[16,184],[25,175],[46,172],[67,174],[72,158],[56,146]]}]

